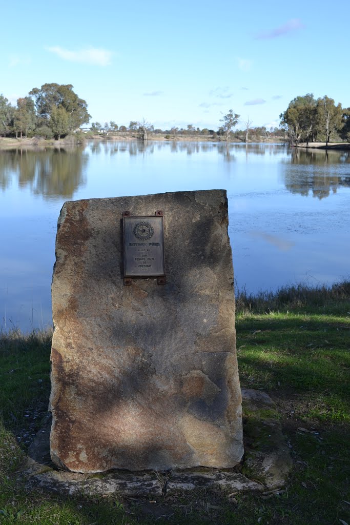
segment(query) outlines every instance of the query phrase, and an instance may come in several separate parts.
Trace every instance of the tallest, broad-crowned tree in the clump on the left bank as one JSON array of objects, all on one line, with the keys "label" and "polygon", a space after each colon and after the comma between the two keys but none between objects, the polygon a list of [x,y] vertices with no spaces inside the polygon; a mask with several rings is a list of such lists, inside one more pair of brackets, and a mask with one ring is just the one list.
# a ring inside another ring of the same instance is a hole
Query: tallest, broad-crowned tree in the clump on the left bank
[{"label": "tallest, broad-crowned tree in the clump on the left bank", "polygon": [[[41,88],[33,88],[29,95],[33,97],[37,110],[39,125],[50,125],[50,117],[54,108],[63,108],[67,114],[68,132],[79,129],[82,124],[88,123],[90,115],[85,100],[80,99],[73,91],[71,84],[57,83],[43,84]],[[61,111],[61,116],[63,112]],[[57,114],[56,114],[57,117]],[[55,118],[54,117],[54,120]]]}]

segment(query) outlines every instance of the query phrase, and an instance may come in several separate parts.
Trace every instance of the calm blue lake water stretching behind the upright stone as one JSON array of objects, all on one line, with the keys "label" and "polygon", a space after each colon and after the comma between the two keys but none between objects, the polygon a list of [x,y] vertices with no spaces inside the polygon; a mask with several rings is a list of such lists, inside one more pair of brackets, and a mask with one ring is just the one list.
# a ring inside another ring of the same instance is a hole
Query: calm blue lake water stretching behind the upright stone
[{"label": "calm blue lake water stretching behind the upright stone", "polygon": [[0,151],[0,188],[2,330],[51,324],[57,218],[72,199],[226,188],[239,288],[350,273],[349,152],[189,142]]}]

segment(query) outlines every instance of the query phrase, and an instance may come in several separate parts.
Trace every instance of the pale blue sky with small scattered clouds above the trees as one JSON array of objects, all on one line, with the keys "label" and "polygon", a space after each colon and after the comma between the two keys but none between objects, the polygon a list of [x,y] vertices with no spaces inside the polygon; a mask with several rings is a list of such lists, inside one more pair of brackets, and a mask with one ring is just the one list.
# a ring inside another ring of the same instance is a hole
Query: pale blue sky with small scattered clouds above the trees
[{"label": "pale blue sky with small scattered clouds above the trees", "polygon": [[91,121],[217,129],[232,109],[238,128],[270,127],[307,92],[350,107],[349,14],[348,0],[7,2],[0,93],[70,83]]}]

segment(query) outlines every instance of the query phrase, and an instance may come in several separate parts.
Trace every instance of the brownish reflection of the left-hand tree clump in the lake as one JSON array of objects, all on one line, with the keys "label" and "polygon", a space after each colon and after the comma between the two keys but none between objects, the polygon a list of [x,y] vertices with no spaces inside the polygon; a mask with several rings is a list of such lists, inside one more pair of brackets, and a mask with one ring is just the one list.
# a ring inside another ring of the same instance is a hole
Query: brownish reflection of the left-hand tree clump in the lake
[{"label": "brownish reflection of the left-hand tree clump in the lake", "polygon": [[20,189],[43,197],[71,198],[85,181],[88,155],[82,149],[47,151],[9,150],[0,155],[0,186],[5,190],[13,178]]}]

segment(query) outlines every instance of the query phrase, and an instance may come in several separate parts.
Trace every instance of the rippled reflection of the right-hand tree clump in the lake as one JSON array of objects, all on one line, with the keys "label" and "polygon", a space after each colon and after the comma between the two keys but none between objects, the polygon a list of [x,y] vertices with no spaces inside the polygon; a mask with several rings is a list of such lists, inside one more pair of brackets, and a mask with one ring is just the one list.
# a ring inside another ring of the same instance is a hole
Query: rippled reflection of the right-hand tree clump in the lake
[{"label": "rippled reflection of the right-hand tree clump in the lake", "polygon": [[[350,187],[350,169],[346,167],[350,162],[348,151],[327,152],[294,148],[290,161],[283,162],[284,184],[291,193],[306,197],[311,192],[313,197],[321,200],[331,192],[336,193],[338,187]],[[295,166],[295,169],[291,169],[291,165]]]}]

